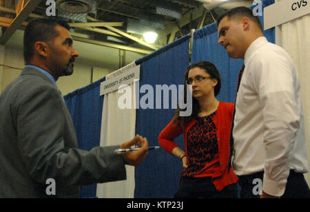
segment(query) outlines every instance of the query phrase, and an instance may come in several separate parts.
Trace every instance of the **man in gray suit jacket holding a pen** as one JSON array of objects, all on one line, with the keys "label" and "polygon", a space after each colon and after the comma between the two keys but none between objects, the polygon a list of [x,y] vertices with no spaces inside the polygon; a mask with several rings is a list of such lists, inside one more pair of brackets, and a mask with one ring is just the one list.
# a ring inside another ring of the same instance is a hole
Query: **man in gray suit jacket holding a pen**
[{"label": "man in gray suit jacket holding a pen", "polygon": [[[125,165],[137,166],[147,156],[141,136],[121,145],[141,149],[123,155],[113,153],[119,146],[78,149],[56,85],[72,74],[79,56],[68,30],[67,23],[48,19],[25,29],[25,68],[0,96],[0,198],[79,198],[81,185],[125,180]],[[46,192],[50,179],[52,196]]]}]

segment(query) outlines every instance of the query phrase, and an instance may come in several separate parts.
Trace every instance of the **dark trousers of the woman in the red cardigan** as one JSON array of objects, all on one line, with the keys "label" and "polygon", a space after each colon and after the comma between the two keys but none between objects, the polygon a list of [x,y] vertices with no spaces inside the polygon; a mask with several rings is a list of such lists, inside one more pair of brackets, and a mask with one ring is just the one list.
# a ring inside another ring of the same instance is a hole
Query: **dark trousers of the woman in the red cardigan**
[{"label": "dark trousers of the woman in the red cardigan", "polygon": [[174,198],[238,198],[238,185],[229,184],[222,191],[217,191],[211,177],[181,177]]}]

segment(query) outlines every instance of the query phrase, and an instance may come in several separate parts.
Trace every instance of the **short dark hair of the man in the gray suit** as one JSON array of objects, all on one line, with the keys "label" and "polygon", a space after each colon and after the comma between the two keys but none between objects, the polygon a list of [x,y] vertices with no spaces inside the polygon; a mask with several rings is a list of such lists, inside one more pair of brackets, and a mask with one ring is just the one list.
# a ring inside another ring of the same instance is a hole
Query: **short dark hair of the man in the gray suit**
[{"label": "short dark hair of the man in the gray suit", "polygon": [[67,22],[59,19],[34,19],[28,23],[23,35],[23,59],[25,64],[30,63],[34,56],[34,43],[43,41],[48,43],[59,34],[56,32],[56,25],[70,30]]}]

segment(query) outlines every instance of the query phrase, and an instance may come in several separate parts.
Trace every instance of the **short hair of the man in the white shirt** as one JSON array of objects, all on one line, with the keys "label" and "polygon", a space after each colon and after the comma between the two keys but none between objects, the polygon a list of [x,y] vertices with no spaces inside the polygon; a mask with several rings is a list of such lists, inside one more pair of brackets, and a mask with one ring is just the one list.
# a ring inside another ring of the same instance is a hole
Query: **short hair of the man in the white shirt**
[{"label": "short hair of the man in the white shirt", "polygon": [[222,21],[224,17],[228,17],[230,19],[231,17],[236,16],[247,17],[251,19],[251,21],[254,21],[254,23],[256,23],[259,26],[260,30],[262,30],[262,24],[260,23],[260,19],[258,19],[257,16],[254,16],[253,10],[247,7],[238,7],[238,8],[232,8],[231,10],[227,10],[225,13],[220,15],[220,17],[218,17],[218,20],[216,21],[216,26],[218,27],[220,21]]}]

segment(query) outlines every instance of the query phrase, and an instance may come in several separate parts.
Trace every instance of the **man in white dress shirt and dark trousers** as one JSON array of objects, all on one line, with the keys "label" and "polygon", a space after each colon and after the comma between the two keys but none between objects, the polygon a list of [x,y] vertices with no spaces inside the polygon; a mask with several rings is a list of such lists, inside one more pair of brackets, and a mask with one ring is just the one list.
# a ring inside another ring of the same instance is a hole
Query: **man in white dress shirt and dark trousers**
[{"label": "man in white dress shirt and dark trousers", "polygon": [[309,198],[300,82],[291,57],[267,41],[249,8],[225,12],[217,25],[228,56],[245,61],[232,131],[241,197]]}]

